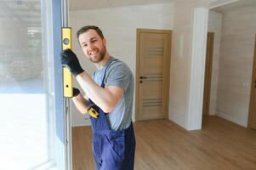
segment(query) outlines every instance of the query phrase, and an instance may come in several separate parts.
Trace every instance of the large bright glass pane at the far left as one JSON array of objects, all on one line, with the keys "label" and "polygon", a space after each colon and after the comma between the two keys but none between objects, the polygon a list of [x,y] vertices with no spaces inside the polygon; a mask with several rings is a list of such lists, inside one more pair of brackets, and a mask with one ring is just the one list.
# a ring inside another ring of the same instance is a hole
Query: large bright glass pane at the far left
[{"label": "large bright glass pane at the far left", "polygon": [[0,1],[1,169],[50,161],[50,87],[40,0]]}]

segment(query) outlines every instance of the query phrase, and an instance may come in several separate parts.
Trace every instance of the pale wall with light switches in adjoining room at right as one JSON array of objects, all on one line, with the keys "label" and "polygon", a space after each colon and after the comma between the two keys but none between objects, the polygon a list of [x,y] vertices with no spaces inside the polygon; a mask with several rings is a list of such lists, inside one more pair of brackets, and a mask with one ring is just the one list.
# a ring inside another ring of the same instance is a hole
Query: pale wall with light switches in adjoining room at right
[{"label": "pale wall with light switches in adjoining room at right", "polygon": [[247,127],[256,6],[235,9],[223,13],[217,115]]}]

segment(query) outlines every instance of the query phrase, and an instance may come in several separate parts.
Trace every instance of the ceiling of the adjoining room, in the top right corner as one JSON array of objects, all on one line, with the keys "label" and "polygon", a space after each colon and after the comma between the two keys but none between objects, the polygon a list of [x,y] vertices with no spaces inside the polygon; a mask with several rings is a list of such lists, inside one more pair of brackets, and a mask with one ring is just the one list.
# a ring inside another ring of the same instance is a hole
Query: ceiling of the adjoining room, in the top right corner
[{"label": "ceiling of the adjoining room, in the top right corner", "polygon": [[213,8],[213,10],[219,13],[223,13],[225,11],[236,10],[237,8],[243,8],[248,6],[256,6],[256,0],[240,0],[235,3],[229,3],[221,7]]}]

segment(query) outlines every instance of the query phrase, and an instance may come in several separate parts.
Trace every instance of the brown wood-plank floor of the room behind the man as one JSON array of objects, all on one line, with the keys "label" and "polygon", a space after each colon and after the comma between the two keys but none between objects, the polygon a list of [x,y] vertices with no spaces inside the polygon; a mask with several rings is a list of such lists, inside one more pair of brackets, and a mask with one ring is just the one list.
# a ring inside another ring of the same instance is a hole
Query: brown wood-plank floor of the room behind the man
[{"label": "brown wood-plank floor of the room behind the man", "polygon": [[[253,170],[256,131],[205,116],[202,130],[186,131],[168,120],[135,122],[135,170]],[[73,170],[93,170],[90,127],[72,129]]]}]

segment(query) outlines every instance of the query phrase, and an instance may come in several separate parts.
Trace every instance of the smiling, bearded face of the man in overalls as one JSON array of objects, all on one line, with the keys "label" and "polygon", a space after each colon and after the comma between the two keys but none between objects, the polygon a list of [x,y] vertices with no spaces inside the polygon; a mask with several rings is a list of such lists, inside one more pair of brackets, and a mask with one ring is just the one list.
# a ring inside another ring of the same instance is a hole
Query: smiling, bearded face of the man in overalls
[{"label": "smiling, bearded face of the man in overalls", "polygon": [[88,30],[78,37],[83,54],[94,63],[100,62],[106,53],[105,39],[101,39],[96,31]]}]

